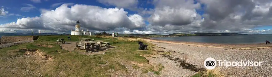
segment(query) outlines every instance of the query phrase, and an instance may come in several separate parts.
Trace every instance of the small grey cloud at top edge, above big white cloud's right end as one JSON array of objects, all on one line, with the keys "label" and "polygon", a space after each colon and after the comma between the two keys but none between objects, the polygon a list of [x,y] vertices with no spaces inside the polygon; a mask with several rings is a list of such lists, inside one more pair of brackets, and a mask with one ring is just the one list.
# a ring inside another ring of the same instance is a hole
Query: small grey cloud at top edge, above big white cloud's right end
[{"label": "small grey cloud at top edge, above big white cloud's right end", "polygon": [[130,10],[137,10],[138,0],[97,0],[105,5],[113,5],[118,8],[127,8]]}]

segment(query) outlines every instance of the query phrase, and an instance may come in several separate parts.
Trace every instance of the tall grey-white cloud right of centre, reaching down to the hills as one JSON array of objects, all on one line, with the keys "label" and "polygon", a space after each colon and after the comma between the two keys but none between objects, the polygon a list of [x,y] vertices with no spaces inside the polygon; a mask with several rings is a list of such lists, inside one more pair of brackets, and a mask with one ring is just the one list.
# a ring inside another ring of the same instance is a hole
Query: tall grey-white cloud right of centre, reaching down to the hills
[{"label": "tall grey-white cloud right of centre, reaching down to the hills", "polygon": [[155,8],[150,10],[153,13],[148,18],[147,31],[162,34],[189,32],[197,30],[202,21],[201,15],[196,13],[200,4],[195,4],[194,0],[154,0],[153,5]]}]

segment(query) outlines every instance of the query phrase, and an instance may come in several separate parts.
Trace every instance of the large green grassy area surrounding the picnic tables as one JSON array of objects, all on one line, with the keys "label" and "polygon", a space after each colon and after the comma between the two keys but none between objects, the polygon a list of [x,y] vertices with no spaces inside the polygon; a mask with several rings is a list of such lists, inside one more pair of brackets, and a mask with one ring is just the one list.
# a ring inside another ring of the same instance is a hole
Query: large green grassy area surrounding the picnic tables
[{"label": "large green grassy area surrounding the picnic tables", "polygon": [[[133,38],[119,38],[118,41],[112,42],[111,37],[96,38],[90,36],[70,36],[71,41],[78,41],[79,38],[94,38],[95,40],[103,40],[111,42],[116,48],[109,49],[105,54],[84,55],[76,51],[67,51],[56,44],[57,38],[65,38],[67,36],[52,35],[39,36],[39,39],[32,43],[25,43],[21,45],[12,46],[9,48],[0,49],[0,64],[3,70],[0,70],[0,76],[111,76],[109,70],[121,72],[121,74],[128,73],[128,69],[121,63],[128,63],[134,69],[140,69],[142,72],[154,72],[160,74],[162,66],[150,65],[144,55],[153,54],[150,45],[148,50],[138,50],[137,40]],[[45,41],[50,40],[50,41]],[[115,39],[116,40],[116,39]],[[41,42],[42,41],[42,42]],[[41,57],[25,57],[25,51],[20,49],[35,49],[36,52],[44,53],[43,56],[50,56],[52,60],[42,60]],[[136,62],[144,66],[131,64]],[[7,68],[8,67],[8,68]],[[159,69],[158,69],[159,68]],[[13,72],[10,72],[13,70]],[[30,70],[32,72],[27,72]]]}]

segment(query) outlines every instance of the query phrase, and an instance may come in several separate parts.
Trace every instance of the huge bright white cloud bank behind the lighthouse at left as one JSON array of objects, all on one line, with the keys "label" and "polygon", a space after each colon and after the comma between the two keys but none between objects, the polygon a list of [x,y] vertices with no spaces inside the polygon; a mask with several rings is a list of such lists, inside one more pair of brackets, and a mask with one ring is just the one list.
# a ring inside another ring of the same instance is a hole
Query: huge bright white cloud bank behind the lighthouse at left
[{"label": "huge bright white cloud bank behind the lighthouse at left", "polygon": [[55,10],[41,10],[39,17],[25,17],[16,22],[2,24],[2,28],[44,29],[58,32],[70,32],[79,20],[83,29],[93,31],[114,31],[118,28],[128,30],[145,28],[138,14],[127,15],[123,8],[101,8],[92,5],[63,4]]}]

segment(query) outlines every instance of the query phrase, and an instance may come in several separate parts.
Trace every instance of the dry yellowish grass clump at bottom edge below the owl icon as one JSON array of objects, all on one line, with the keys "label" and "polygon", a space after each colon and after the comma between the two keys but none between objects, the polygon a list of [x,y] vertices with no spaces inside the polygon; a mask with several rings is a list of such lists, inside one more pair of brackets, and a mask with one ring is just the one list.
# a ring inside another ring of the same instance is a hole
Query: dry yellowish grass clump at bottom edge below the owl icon
[{"label": "dry yellowish grass clump at bottom edge below the owl icon", "polygon": [[222,75],[219,68],[215,68],[212,70],[206,69],[204,71],[199,71],[191,77],[224,77],[224,75]]}]

